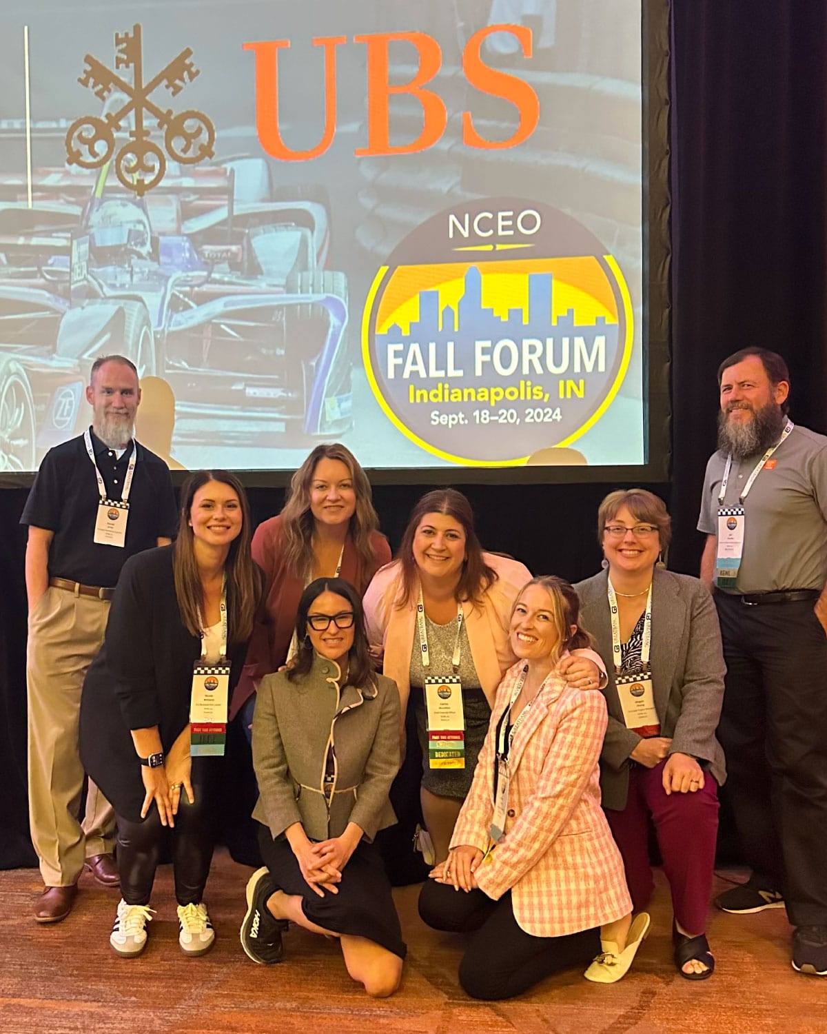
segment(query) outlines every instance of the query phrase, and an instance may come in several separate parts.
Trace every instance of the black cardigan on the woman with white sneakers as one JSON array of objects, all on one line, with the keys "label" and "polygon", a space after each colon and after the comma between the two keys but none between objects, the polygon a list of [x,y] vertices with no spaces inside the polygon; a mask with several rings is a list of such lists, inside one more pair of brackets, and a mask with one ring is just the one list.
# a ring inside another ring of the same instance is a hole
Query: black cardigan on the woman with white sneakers
[{"label": "black cardigan on the woman with white sneakers", "polygon": [[[81,760],[115,811],[132,822],[141,820],[145,791],[130,730],[157,725],[170,750],[189,723],[192,664],[201,655],[201,640],[178,609],[175,548],[149,549],[124,565],[81,698]],[[246,648],[241,642],[228,649],[231,693]]]}]

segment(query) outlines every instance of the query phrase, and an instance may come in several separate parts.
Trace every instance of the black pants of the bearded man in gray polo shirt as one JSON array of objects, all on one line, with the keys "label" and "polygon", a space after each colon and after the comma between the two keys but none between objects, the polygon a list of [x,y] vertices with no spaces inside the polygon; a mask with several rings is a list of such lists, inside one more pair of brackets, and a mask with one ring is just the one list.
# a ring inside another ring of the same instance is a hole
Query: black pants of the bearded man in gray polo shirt
[{"label": "black pants of the bearded man in gray polo shirt", "polygon": [[796,926],[827,924],[827,636],[813,603],[715,594],[727,792],[744,860]]}]

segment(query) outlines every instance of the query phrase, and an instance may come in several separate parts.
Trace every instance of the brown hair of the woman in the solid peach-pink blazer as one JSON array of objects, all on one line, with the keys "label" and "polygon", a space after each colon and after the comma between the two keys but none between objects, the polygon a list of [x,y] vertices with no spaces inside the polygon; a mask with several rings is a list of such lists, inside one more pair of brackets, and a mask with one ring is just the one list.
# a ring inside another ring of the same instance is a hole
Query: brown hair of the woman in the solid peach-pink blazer
[{"label": "brown hair of the woman in the solid peach-pink blazer", "polygon": [[414,538],[426,514],[447,514],[459,521],[465,531],[465,559],[462,562],[455,596],[458,602],[468,600],[479,603],[486,589],[497,580],[497,573],[485,562],[483,547],[473,529],[471,505],[455,488],[436,488],[428,492],[414,507],[405,534],[399,545],[397,559],[402,565],[402,592],[397,607],[409,607],[414,602],[417,584],[417,561],[414,559]]}]

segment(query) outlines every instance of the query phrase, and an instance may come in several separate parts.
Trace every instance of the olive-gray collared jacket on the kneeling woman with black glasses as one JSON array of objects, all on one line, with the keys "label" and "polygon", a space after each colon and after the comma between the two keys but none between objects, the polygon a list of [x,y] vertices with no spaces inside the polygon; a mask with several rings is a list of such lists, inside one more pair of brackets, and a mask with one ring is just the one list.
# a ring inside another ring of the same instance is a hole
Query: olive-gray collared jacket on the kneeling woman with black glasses
[{"label": "olive-gray collared jacket on the kneeling woman with black glasses", "polygon": [[[253,818],[275,839],[295,822],[308,838],[339,837],[348,822],[373,840],[396,816],[388,794],[400,763],[399,691],[384,675],[362,689],[339,691],[339,667],[315,656],[307,675],[266,675],[252,722],[252,759],[258,780]],[[324,791],[328,748],[335,781]]]}]

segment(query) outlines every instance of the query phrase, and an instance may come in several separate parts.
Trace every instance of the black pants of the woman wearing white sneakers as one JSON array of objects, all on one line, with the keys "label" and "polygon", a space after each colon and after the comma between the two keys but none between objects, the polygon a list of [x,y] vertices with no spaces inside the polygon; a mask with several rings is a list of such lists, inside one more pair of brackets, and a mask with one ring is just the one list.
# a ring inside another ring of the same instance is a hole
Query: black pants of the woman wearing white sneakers
[{"label": "black pants of the woman wearing white sneakers", "polygon": [[190,779],[195,802],[190,804],[182,790],[172,829],[161,825],[154,803],[143,822],[130,822],[116,816],[121,895],[127,905],[149,905],[155,870],[167,833],[172,838],[176,900],[179,905],[201,902],[215,845],[216,808],[211,784],[215,782],[220,761],[220,758],[192,759]]}]

